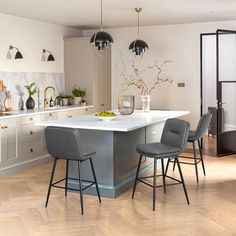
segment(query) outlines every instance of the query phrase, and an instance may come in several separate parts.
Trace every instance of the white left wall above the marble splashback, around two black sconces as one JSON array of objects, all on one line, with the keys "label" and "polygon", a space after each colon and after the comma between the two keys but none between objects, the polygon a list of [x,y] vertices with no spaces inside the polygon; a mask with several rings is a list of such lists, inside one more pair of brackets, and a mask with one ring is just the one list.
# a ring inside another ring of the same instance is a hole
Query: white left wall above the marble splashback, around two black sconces
[{"label": "white left wall above the marble splashback, around two black sconces", "polygon": [[[0,14],[0,71],[64,72],[63,38],[81,36],[78,29]],[[20,49],[23,60],[6,58],[9,45]],[[55,62],[43,62],[42,49],[53,52]]]}]

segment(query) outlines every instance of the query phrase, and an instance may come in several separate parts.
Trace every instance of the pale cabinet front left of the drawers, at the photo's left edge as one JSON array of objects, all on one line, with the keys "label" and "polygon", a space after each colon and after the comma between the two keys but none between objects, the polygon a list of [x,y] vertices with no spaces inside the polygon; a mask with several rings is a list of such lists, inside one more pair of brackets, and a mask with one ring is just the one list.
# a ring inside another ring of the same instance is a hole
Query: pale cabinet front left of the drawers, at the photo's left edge
[{"label": "pale cabinet front left of the drawers, at the photo's left edge", "polygon": [[1,162],[0,165],[15,163],[18,157],[18,127],[16,120],[4,122],[0,130]]}]

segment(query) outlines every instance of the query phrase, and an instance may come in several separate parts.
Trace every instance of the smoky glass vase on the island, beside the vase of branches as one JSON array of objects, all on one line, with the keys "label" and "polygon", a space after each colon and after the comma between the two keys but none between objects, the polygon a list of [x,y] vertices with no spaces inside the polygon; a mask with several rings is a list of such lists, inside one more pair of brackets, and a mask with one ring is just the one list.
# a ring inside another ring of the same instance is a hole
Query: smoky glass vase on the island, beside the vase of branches
[{"label": "smoky glass vase on the island, beside the vase of branches", "polygon": [[134,112],[134,96],[133,95],[119,96],[118,109],[121,115],[131,115]]}]

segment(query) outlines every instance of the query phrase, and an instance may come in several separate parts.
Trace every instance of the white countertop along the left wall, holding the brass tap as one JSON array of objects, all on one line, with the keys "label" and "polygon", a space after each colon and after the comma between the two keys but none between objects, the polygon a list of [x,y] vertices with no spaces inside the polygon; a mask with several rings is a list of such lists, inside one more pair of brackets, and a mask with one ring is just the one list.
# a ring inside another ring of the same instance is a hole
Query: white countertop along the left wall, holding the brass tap
[{"label": "white countertop along the left wall, holding the brass tap", "polygon": [[93,105],[89,106],[55,106],[55,107],[48,107],[48,108],[40,108],[40,109],[33,109],[33,110],[13,110],[10,112],[6,112],[6,114],[2,113],[0,115],[1,119],[9,119],[9,118],[17,118],[22,116],[30,116],[30,115],[37,115],[37,114],[43,114],[43,113],[52,113],[52,112],[58,112],[58,111],[68,111],[68,110],[76,110],[76,109],[85,109],[85,108],[92,108]]}]

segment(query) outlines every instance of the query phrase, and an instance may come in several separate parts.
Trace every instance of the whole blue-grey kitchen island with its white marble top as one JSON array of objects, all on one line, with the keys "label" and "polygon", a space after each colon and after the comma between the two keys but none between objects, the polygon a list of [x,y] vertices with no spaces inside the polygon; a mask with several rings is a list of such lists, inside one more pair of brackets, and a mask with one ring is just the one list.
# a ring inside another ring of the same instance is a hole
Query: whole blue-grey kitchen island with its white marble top
[{"label": "whole blue-grey kitchen island with its white marble top", "polygon": [[[133,185],[138,162],[136,146],[141,143],[160,140],[162,129],[168,118],[181,117],[187,111],[135,111],[132,115],[118,115],[111,121],[101,120],[94,115],[78,118],[38,122],[40,126],[76,128],[79,130],[82,145],[96,150],[94,158],[95,171],[103,197],[115,198]],[[91,180],[89,163],[83,163],[83,178]],[[142,171],[150,168],[152,163],[144,160]],[[69,177],[78,178],[77,163],[70,163]],[[78,188],[74,181],[69,186]],[[87,193],[93,194],[89,188]]]}]

